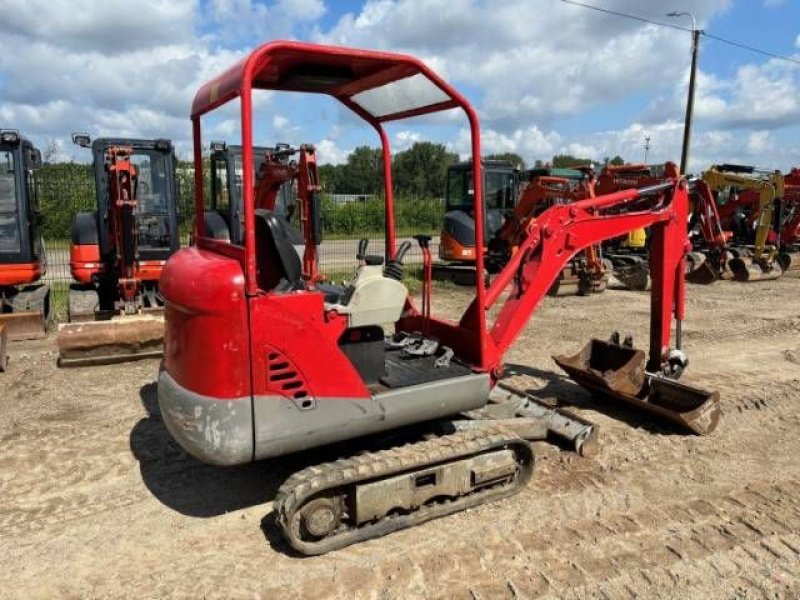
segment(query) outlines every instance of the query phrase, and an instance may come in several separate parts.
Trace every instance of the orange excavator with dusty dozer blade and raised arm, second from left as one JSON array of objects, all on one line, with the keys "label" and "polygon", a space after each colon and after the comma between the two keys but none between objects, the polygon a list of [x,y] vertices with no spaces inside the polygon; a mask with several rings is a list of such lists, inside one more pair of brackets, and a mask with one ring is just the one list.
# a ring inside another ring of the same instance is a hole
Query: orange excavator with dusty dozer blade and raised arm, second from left
[{"label": "orange excavator with dusty dozer blade and raised arm, second from left", "polygon": [[59,365],[160,356],[159,279],[180,246],[175,153],[169,140],[74,134],[91,146],[97,209],[72,222],[69,323],[58,332]]}]

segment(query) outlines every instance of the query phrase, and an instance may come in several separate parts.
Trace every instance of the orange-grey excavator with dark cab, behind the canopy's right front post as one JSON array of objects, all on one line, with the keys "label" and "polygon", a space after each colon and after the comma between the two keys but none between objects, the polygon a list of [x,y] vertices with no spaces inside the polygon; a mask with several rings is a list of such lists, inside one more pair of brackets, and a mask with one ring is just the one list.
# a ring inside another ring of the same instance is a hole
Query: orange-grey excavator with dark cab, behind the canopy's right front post
[{"label": "orange-grey excavator with dark cab, behind the canopy's right front post", "polygon": [[[520,170],[507,160],[481,159],[480,163],[482,187],[486,190],[484,240],[488,244],[517,205]],[[474,193],[472,164],[467,161],[451,165],[447,169],[445,214],[439,235],[439,261],[433,265],[434,279],[460,285],[475,281]]]}]

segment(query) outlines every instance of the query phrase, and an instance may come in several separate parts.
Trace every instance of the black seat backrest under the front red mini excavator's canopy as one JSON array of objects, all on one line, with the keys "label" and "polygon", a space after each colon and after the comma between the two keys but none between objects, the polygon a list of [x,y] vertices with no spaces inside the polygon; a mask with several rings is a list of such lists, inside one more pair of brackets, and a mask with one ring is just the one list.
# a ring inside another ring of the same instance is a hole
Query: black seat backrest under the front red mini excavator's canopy
[{"label": "black seat backrest under the front red mini excavator's canopy", "polygon": [[263,208],[256,209],[256,268],[263,290],[303,288],[300,256],[292,245],[291,225]]}]

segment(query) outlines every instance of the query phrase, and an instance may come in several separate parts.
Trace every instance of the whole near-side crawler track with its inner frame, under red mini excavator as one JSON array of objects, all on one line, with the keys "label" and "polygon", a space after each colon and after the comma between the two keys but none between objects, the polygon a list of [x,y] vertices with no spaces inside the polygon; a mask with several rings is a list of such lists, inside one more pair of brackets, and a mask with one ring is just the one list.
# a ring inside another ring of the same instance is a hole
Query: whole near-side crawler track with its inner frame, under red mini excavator
[{"label": "whole near-side crawler track with its inner frame, under red mini excavator", "polygon": [[303,469],[278,490],[276,522],[297,552],[324,554],[508,498],[533,464],[508,430],[458,431]]}]

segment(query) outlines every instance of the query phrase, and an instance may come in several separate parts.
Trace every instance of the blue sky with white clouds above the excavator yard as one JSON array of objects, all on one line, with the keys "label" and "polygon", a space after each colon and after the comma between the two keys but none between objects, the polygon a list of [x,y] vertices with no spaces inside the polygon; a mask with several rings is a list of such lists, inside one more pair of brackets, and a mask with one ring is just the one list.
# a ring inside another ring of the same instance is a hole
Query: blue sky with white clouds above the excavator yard
[{"label": "blue sky with white clouds above the excavator yard", "polygon": [[[710,33],[800,59],[796,0],[585,1],[657,21],[691,9]],[[188,156],[195,90],[259,43],[291,38],[423,58],[477,106],[487,152],[638,161],[647,135],[652,160],[679,159],[689,33],[559,0],[142,0],[133,13],[120,0],[0,4],[10,15],[0,22],[0,126],[62,158],[85,158],[68,142],[75,130],[170,137]],[[800,164],[798,68],[703,38],[693,169]],[[258,110],[259,142],[313,142],[322,161],[376,143],[328,98],[265,95]],[[215,115],[206,141],[236,141],[236,119],[235,107]],[[468,150],[457,116],[403,122],[391,134],[396,149],[431,139]]]}]

